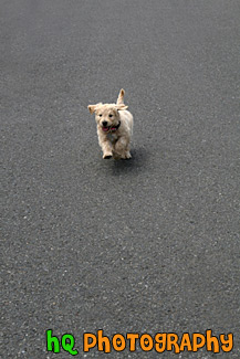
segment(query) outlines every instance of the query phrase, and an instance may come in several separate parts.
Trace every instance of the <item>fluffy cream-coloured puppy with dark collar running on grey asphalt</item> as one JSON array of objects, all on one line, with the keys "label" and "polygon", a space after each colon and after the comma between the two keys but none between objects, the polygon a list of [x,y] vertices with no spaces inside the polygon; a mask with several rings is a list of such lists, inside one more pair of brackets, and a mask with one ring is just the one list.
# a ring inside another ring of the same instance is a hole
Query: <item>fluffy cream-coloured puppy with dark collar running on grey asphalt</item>
[{"label": "fluffy cream-coloured puppy with dark collar running on grey asphalt", "polygon": [[98,144],[103,158],[129,159],[129,142],[133,135],[133,115],[124,104],[125,91],[122,88],[116,104],[88,105],[91,114],[95,113]]}]

